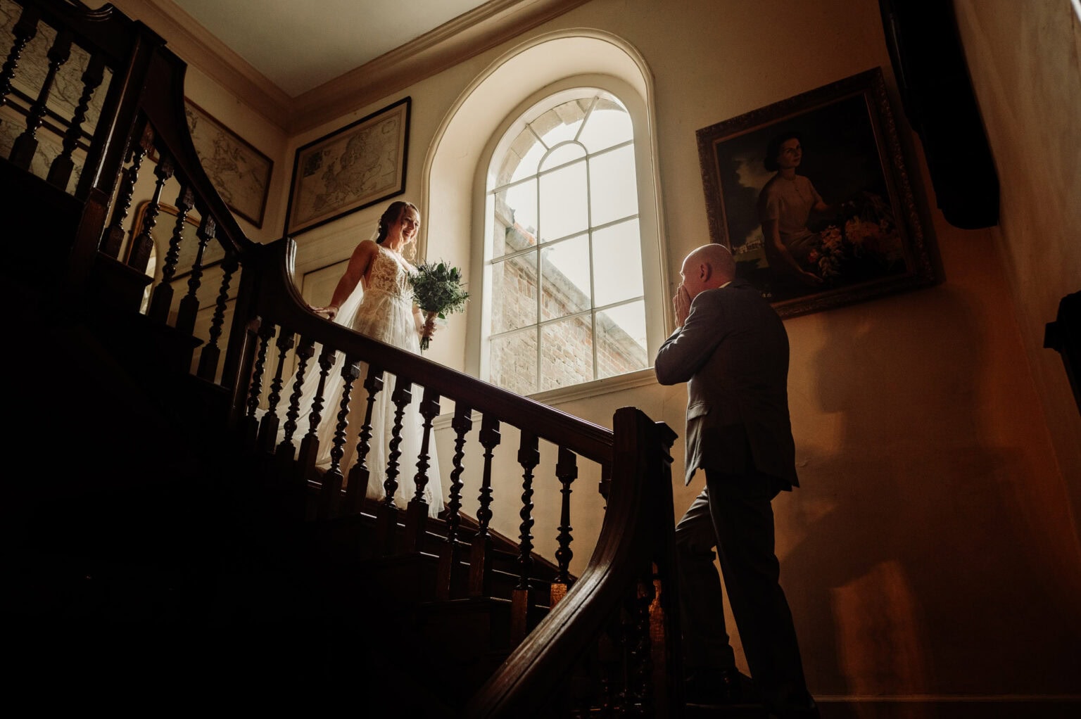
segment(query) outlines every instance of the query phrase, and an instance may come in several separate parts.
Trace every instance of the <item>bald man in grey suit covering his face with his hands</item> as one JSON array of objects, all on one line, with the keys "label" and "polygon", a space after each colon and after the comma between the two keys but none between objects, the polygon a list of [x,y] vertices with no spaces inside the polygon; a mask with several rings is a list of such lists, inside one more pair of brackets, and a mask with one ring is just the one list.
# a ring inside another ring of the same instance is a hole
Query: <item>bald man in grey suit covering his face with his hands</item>
[{"label": "bald man in grey suit covering his face with his hands", "polygon": [[717,548],[747,665],[773,716],[817,717],[778,582],[773,507],[799,487],[788,416],[788,334],[758,290],[735,279],[722,244],[693,250],[672,298],[676,331],[654,363],[663,385],[688,383],[685,477],[706,487],[676,527],[686,698],[740,701],[724,626]]}]

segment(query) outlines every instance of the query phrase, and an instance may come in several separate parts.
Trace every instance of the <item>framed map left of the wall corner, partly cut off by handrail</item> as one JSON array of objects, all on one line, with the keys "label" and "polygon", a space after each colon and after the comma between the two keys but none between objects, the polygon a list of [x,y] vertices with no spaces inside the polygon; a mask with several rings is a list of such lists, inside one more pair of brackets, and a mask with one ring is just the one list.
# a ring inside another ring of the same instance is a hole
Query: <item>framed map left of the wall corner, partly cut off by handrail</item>
[{"label": "framed map left of the wall corner, partly cut off by handrail", "polygon": [[214,189],[230,210],[263,227],[273,162],[190,99],[184,99],[184,114],[196,155]]}]

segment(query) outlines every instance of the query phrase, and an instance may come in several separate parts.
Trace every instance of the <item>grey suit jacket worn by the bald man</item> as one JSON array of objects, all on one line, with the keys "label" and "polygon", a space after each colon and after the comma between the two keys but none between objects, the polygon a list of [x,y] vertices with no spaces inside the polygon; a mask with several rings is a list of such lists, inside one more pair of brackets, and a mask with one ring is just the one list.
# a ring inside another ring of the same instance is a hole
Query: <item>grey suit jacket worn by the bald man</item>
[{"label": "grey suit jacket worn by the bald man", "polygon": [[688,383],[686,476],[757,469],[799,487],[788,416],[788,334],[758,290],[743,280],[706,290],[660,346],[663,385]]}]

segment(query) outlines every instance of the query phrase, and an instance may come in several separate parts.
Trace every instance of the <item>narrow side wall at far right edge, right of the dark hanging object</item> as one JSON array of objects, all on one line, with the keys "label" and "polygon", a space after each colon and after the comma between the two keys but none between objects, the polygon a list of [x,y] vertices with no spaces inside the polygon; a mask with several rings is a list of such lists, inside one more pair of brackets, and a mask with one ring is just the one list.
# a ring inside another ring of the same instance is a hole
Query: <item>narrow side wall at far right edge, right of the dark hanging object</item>
[{"label": "narrow side wall at far right edge, right of the dark hanging object", "polygon": [[[1081,5],[956,3],[1002,182],[1000,252],[1026,361],[1081,525],[1081,413],[1060,356],[1043,348],[1063,296],[1081,291]],[[1018,102],[1023,98],[1025,102]]]}]

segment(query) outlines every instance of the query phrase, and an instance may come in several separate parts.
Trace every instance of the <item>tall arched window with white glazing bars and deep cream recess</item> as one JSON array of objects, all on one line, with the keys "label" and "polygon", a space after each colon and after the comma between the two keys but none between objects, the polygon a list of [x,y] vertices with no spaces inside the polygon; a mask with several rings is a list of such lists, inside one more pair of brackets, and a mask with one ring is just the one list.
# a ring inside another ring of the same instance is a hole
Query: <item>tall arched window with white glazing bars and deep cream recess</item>
[{"label": "tall arched window with white glazing bars and deep cream recess", "polygon": [[418,256],[463,267],[470,295],[432,359],[552,404],[656,382],[671,288],[654,105],[641,53],[592,28],[529,38],[465,89],[424,169]]}]

